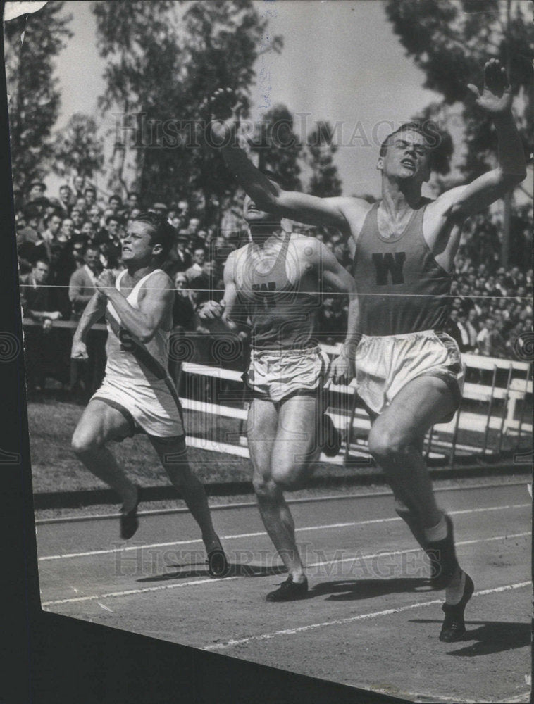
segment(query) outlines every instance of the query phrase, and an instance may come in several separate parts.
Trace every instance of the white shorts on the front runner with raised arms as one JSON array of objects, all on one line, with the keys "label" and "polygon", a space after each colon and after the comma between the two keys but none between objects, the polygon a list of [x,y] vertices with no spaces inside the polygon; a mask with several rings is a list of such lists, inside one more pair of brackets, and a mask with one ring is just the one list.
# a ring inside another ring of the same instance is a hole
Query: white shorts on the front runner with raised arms
[{"label": "white shorts on the front runner with raised arms", "polygon": [[[383,413],[406,384],[423,376],[443,379],[458,408],[465,367],[452,337],[433,330],[361,337],[356,349],[356,388],[371,413]],[[441,422],[449,422],[452,415]]]}]

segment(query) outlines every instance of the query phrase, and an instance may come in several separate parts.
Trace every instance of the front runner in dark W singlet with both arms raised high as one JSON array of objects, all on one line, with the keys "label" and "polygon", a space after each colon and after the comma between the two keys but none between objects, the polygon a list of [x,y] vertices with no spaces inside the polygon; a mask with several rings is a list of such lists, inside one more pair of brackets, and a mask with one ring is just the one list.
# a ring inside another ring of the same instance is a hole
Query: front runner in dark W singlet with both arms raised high
[{"label": "front runner in dark W singlet with both arms raised high", "polygon": [[[445,588],[442,641],[464,636],[464,610],[473,593],[473,582],[457,562],[452,522],[437,506],[422,454],[428,429],[456,410],[463,377],[457,345],[441,332],[443,297],[449,293],[466,218],[526,176],[511,88],[499,61],[486,63],[482,92],[473,85],[468,89],[494,122],[496,168],[428,201],[421,187],[430,177],[433,144],[423,126],[409,123],[380,148],[383,197],[374,206],[358,198],[282,191],[240,149],[237,111],[230,115],[224,104],[231,102],[230,94],[221,89],[212,101],[218,118],[211,123],[212,143],[221,145],[228,167],[257,206],[297,222],[337,227],[349,238],[361,301],[356,380],[371,413],[369,449],[387,474],[397,512],[430,556],[435,588]],[[351,358],[345,349],[334,373],[346,373]]]}]

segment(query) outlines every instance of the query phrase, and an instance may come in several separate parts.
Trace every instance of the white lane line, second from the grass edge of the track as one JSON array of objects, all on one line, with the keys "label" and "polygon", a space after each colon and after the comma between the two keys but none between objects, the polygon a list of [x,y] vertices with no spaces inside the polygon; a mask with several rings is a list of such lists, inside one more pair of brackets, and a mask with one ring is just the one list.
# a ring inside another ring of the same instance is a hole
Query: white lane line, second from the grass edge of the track
[{"label": "white lane line, second from the grass edge of the track", "polygon": [[[449,515],[455,516],[455,515],[461,515],[461,514],[466,514],[466,513],[484,513],[485,511],[502,511],[502,510],[509,510],[512,508],[526,508],[530,507],[530,503],[513,503],[508,506],[488,506],[488,508],[466,508],[462,510],[457,510],[457,511],[448,511]],[[332,529],[332,528],[349,528],[349,527],[356,527],[356,526],[364,526],[364,525],[371,525],[374,523],[389,523],[389,522],[395,522],[395,521],[402,521],[402,518],[399,518],[398,516],[392,517],[392,518],[373,518],[371,520],[366,520],[366,521],[351,521],[348,523],[332,523],[332,524],[327,524],[327,525],[321,525],[321,526],[306,526],[303,528],[297,528],[295,529],[295,532],[304,532],[304,531],[313,531],[313,530],[327,530],[327,529]],[[255,533],[240,533],[240,534],[235,534],[235,535],[223,535],[221,536],[221,540],[237,540],[240,538],[257,538],[259,536],[266,536],[265,531],[259,531]],[[180,541],[173,541],[170,543],[149,543],[148,545],[144,545],[142,543],[137,543],[136,545],[128,545],[124,548],[110,548],[107,550],[92,550],[92,551],[87,551],[85,553],[63,553],[61,555],[43,555],[41,558],[39,558],[39,562],[46,562],[49,560],[65,560],[66,558],[87,558],[90,557],[91,555],[113,555],[113,553],[122,553],[125,551],[132,551],[132,550],[148,550],[151,548],[170,548],[174,546],[179,546],[179,545],[192,545],[193,543],[201,543],[201,539],[192,539],[192,540],[180,540]]]}]

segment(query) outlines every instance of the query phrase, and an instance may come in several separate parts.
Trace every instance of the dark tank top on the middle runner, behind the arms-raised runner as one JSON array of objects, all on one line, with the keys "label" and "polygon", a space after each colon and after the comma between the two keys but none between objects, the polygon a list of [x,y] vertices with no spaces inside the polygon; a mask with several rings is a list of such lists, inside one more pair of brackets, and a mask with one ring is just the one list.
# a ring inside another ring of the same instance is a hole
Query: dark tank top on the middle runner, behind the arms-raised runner
[{"label": "dark tank top on the middle runner, behind the arms-raised runner", "polygon": [[[290,239],[291,233],[285,232],[271,268],[265,259],[256,263],[252,244],[244,252],[237,293],[240,306],[250,318],[252,347],[256,349],[296,349],[313,344],[319,296],[299,291],[302,265],[289,252]],[[268,270],[264,271],[262,264]],[[296,279],[294,283],[291,275]]]}]

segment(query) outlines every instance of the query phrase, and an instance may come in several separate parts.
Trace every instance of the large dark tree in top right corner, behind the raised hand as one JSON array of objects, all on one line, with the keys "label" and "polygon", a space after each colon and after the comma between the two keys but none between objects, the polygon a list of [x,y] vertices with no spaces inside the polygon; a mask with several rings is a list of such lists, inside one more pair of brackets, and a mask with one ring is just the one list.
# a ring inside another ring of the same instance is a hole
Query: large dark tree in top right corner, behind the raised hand
[{"label": "large dark tree in top right corner, behind the raised hand", "polygon": [[[495,165],[495,132],[491,120],[473,103],[466,84],[480,84],[488,58],[507,67],[516,96],[514,109],[526,154],[534,149],[534,84],[532,61],[534,25],[531,6],[506,0],[387,0],[387,18],[406,54],[421,68],[424,87],[442,94],[426,110],[428,117],[447,118],[459,108],[464,124],[465,156],[459,163],[462,180],[473,180]],[[445,170],[447,172],[447,170]],[[442,180],[442,187],[452,183]],[[509,251],[512,199],[504,199],[501,262]],[[530,217],[532,217],[530,215]]]}]

